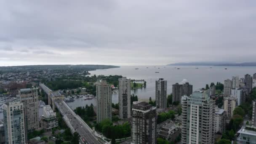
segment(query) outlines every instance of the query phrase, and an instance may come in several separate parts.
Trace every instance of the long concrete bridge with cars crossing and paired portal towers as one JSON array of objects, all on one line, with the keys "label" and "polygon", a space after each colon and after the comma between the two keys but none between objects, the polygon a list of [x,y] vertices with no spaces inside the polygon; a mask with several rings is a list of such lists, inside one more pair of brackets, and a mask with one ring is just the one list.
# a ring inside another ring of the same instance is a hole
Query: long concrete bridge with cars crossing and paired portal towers
[{"label": "long concrete bridge with cars crossing and paired portal towers", "polygon": [[72,133],[77,132],[80,135],[80,142],[82,144],[107,144],[107,141],[101,139],[101,135],[93,131],[79,115],[63,101],[63,95],[58,91],[52,91],[43,83],[39,84],[41,91],[44,91],[48,96],[48,104],[52,104],[53,110],[57,108],[67,126],[70,128]]}]

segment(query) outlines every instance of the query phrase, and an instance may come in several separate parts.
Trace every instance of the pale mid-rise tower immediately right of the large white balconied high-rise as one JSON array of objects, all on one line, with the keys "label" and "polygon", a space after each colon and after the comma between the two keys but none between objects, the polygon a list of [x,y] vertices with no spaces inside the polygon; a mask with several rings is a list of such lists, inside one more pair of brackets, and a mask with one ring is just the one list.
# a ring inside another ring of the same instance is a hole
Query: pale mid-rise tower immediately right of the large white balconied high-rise
[{"label": "pale mid-rise tower immediately right of the large white balconied high-rise", "polygon": [[226,128],[226,114],[224,109],[215,108],[214,132],[223,133]]}]

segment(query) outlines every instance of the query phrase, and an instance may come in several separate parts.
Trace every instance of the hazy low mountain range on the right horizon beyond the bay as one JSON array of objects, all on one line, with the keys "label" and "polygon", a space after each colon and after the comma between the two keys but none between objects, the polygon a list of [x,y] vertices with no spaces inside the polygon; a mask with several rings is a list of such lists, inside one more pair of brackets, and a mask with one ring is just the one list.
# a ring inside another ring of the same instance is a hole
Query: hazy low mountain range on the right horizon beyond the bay
[{"label": "hazy low mountain range on the right horizon beyond the bay", "polygon": [[230,63],[230,62],[188,62],[168,64],[168,66],[237,66],[237,67],[254,67],[256,62]]}]

